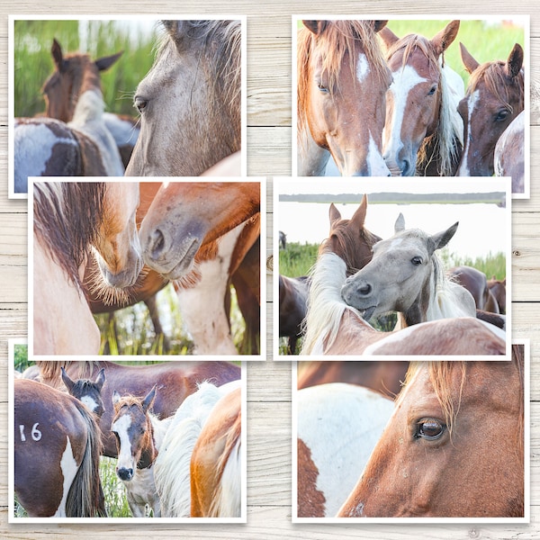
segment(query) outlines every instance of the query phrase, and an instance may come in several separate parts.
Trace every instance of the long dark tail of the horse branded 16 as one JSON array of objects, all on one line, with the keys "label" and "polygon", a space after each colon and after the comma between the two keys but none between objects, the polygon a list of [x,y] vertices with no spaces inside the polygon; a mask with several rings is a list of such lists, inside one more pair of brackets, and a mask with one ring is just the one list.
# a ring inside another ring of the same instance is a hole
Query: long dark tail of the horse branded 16
[{"label": "long dark tail of the horse branded 16", "polygon": [[75,479],[71,483],[66,499],[67,518],[105,518],[102,485],[99,477],[99,456],[101,451],[101,430],[94,414],[85,405],[74,399],[76,409],[85,422],[85,453]]}]

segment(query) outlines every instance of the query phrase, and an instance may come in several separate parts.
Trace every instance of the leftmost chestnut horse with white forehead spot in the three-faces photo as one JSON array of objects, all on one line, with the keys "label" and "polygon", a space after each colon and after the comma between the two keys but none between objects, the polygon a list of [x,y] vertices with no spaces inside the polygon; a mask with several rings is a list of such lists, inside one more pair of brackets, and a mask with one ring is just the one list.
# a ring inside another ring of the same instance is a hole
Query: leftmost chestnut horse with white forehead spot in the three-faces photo
[{"label": "leftmost chestnut horse with white forehead spot in the three-faces photo", "polygon": [[298,174],[389,176],[381,154],[392,82],[376,40],[387,21],[302,21],[297,39]]}]

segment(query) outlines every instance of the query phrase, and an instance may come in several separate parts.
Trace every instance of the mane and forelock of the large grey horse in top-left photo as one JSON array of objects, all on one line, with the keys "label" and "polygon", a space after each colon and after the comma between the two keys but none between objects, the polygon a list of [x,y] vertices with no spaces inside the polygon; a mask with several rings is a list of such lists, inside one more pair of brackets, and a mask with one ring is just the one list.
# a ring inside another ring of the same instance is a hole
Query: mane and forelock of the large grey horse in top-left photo
[{"label": "mane and forelock of the large grey horse in top-left photo", "polygon": [[230,153],[240,149],[241,139],[241,43],[242,25],[239,20],[229,21],[181,21],[182,27],[175,27],[170,22],[163,22],[167,31],[174,31],[175,37],[165,33],[157,41],[156,62],[166,54],[172,42],[181,39],[185,34],[192,40],[197,40],[200,46],[198,54],[206,58],[211,73],[208,74],[207,84],[211,84],[211,103],[227,112],[229,127],[233,129],[233,140]]}]

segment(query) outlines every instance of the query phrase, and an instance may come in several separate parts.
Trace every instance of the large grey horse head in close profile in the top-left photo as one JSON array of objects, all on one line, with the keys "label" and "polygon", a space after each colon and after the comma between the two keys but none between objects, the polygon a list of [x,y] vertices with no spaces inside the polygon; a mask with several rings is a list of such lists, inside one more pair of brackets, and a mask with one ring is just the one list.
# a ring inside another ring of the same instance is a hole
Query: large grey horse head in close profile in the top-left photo
[{"label": "large grey horse head in close profile in the top-left photo", "polygon": [[163,26],[156,61],[133,100],[140,133],[128,176],[198,176],[240,150],[241,22]]}]

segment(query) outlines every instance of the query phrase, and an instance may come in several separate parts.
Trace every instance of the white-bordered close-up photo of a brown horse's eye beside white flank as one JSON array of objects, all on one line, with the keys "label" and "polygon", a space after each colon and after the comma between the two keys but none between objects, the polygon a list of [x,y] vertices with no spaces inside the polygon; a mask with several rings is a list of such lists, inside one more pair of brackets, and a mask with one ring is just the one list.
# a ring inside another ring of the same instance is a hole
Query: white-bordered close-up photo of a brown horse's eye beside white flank
[{"label": "white-bordered close-up photo of a brown horse's eye beside white flank", "polygon": [[529,342],[509,362],[404,370],[293,369],[293,522],[528,522]]}]

